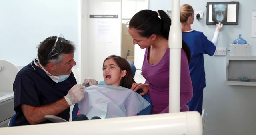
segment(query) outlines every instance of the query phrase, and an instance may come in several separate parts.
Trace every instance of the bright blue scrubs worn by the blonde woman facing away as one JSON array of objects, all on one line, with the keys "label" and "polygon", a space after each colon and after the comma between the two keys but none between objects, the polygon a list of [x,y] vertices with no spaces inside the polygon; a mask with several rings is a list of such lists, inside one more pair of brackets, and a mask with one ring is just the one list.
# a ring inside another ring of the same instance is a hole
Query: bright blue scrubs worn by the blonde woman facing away
[{"label": "bright blue scrubs worn by the blonde woman facing away", "polygon": [[188,44],[192,58],[188,64],[193,85],[193,97],[188,103],[189,110],[202,113],[203,89],[206,87],[204,54],[212,56],[216,46],[202,32],[196,30],[182,32],[182,40]]}]

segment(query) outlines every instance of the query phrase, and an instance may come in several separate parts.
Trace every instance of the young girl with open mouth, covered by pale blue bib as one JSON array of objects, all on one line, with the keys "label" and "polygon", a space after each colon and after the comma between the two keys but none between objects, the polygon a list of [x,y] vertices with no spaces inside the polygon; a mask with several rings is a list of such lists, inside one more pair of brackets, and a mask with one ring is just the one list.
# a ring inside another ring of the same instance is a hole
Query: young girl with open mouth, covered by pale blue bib
[{"label": "young girl with open mouth, covered by pale blue bib", "polygon": [[132,69],[127,60],[111,55],[104,60],[103,78],[98,85],[84,89],[84,99],[78,103],[80,113],[89,119],[134,116],[150,105],[132,91]]}]

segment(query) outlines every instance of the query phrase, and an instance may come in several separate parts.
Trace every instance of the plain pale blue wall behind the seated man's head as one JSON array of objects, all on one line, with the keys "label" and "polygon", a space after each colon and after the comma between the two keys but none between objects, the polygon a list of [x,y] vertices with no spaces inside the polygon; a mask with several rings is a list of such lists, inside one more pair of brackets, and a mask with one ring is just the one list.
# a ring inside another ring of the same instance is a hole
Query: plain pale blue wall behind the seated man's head
[{"label": "plain pale blue wall behind the seated man's head", "polygon": [[[26,66],[37,56],[36,46],[62,33],[79,48],[80,0],[1,0],[0,59]],[[79,65],[78,51],[75,60]]]}]

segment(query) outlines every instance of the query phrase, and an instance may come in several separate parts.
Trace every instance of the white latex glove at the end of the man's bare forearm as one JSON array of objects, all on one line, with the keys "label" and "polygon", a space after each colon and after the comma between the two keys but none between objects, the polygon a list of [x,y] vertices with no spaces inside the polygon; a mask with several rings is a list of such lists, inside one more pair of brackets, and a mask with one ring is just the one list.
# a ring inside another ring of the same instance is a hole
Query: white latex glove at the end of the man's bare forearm
[{"label": "white latex glove at the end of the man's bare forearm", "polygon": [[68,94],[64,97],[68,105],[74,105],[84,98],[84,88],[83,85],[76,84],[68,91]]}]

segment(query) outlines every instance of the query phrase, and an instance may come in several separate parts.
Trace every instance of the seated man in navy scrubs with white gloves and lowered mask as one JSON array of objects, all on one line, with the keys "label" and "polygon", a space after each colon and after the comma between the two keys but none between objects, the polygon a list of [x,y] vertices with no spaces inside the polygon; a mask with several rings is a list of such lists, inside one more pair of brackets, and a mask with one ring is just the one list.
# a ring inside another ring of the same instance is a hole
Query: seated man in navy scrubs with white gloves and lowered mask
[{"label": "seated man in navy scrubs with white gloves and lowered mask", "polygon": [[75,45],[62,34],[40,42],[38,59],[16,75],[14,110],[16,125],[51,123],[45,115],[57,115],[69,121],[70,105],[84,97],[84,86],[76,84],[71,69]]}]

